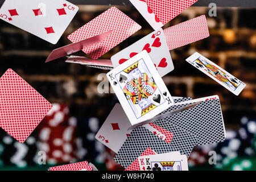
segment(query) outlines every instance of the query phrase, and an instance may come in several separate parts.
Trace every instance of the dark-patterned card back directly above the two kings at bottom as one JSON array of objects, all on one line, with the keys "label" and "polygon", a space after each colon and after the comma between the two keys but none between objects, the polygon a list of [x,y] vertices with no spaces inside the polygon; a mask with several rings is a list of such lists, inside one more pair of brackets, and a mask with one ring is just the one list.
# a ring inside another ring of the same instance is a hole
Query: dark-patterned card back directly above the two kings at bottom
[{"label": "dark-patterned card back directly above the two kings at bottom", "polygon": [[170,143],[167,143],[166,141],[157,137],[151,131],[148,131],[144,127],[140,126],[133,129],[125,143],[123,143],[122,147],[118,151],[117,155],[115,155],[114,161],[127,168],[148,147],[154,150],[157,154],[180,151],[180,154],[189,157],[193,147],[196,146],[196,136],[172,125],[171,123],[167,122],[167,125],[168,129],[163,128],[170,131],[174,135]]}]

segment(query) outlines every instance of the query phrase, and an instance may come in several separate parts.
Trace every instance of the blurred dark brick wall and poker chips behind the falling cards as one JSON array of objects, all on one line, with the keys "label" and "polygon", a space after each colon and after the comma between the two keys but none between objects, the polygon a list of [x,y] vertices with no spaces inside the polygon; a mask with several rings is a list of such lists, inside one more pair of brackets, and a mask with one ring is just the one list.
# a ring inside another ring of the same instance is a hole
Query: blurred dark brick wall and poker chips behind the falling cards
[{"label": "blurred dark brick wall and poker chips behind the falling cards", "polygon": [[[140,24],[142,30],[111,49],[102,56],[104,59],[110,59],[153,31],[133,6],[117,7]],[[98,169],[123,169],[113,161],[115,154],[94,138],[118,102],[113,93],[97,92],[100,82],[108,83],[98,75],[108,71],[65,63],[66,58],[44,63],[53,49],[71,43],[67,39],[69,34],[110,6],[79,5],[79,8],[56,45],[6,22],[0,23],[0,75],[8,68],[13,69],[53,104],[53,109],[24,144],[0,129],[0,170],[47,170],[84,160]],[[216,17],[210,17],[208,12],[208,7],[192,6],[163,27],[203,14],[207,16],[209,38],[170,51],[175,69],[163,77],[172,96],[199,98],[217,94],[220,97],[227,139],[194,148],[189,157],[189,170],[255,170],[256,9],[217,7]],[[245,82],[241,94],[235,96],[189,65],[185,59],[196,51]],[[75,55],[86,56],[81,51]],[[210,150],[217,152],[216,165],[208,163]],[[38,164],[38,151],[46,152],[46,165]]]}]

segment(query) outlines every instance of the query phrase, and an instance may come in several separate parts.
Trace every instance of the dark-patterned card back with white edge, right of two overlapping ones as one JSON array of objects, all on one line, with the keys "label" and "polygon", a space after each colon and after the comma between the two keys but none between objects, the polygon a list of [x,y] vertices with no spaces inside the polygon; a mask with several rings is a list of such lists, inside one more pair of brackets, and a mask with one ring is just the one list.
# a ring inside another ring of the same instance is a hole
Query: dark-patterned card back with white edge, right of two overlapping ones
[{"label": "dark-patterned card back with white edge, right of two overlapping ones", "polygon": [[[213,99],[214,97],[216,97],[216,99]],[[200,101],[200,103],[196,106],[180,113],[169,115],[154,123],[165,128],[169,122],[180,129],[194,134],[197,138],[197,146],[223,142],[226,137],[226,132],[218,96],[185,101],[183,104],[179,103],[177,105],[183,107],[186,104],[192,104],[197,101]],[[175,107],[175,105],[173,107]]]}]

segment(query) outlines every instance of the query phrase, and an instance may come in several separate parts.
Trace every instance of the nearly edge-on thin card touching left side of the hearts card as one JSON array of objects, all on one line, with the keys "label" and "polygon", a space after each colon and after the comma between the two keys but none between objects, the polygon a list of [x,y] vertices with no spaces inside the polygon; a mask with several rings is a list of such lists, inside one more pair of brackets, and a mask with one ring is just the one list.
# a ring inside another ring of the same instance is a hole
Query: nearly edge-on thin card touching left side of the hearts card
[{"label": "nearly edge-on thin card touching left side of the hearts card", "polygon": [[65,62],[82,64],[86,66],[108,67],[108,69],[113,69],[113,64],[111,60],[108,60],[108,59],[92,60],[92,59],[89,59],[88,57],[69,56]]}]

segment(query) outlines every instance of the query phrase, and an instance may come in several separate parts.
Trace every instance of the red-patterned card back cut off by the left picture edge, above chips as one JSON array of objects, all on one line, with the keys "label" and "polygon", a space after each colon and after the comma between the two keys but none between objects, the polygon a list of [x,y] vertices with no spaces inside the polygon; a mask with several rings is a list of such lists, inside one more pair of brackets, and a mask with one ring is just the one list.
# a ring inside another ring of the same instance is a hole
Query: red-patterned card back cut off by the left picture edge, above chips
[{"label": "red-patterned card back cut off by the left picture edge, above chips", "polygon": [[0,78],[0,127],[23,143],[52,105],[12,69]]}]

